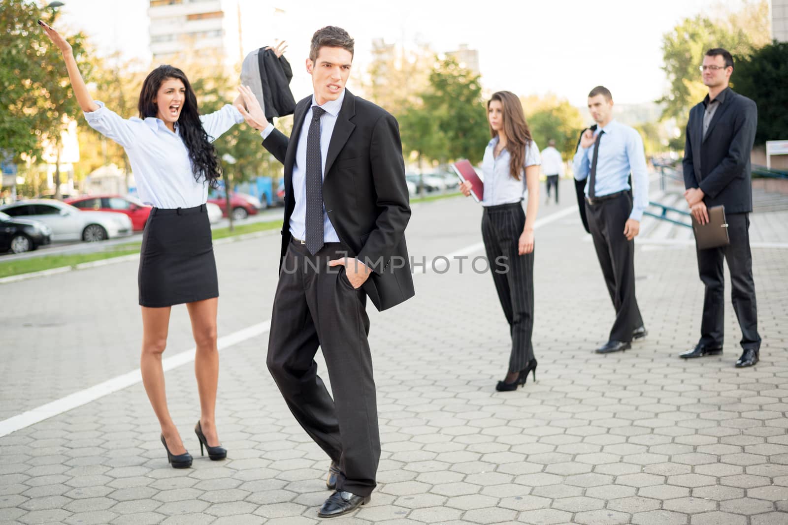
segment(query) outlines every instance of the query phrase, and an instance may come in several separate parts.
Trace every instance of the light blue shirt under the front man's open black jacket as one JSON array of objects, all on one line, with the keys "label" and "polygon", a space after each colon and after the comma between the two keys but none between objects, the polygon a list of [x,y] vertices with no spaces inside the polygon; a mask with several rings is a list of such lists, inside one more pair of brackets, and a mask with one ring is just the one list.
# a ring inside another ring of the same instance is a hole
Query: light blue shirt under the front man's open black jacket
[{"label": "light blue shirt under the front man's open black jacket", "polygon": [[[344,101],[344,93],[342,90],[340,98],[336,100],[329,100],[321,105],[325,109],[325,113],[320,117],[320,167],[323,172],[323,179],[325,179],[325,158],[329,155],[329,144],[331,142],[331,135],[334,132],[334,125],[336,124],[336,117],[340,114],[342,109],[342,101]],[[298,145],[296,146],[296,164],[293,165],[293,196],[296,198],[296,207],[290,216],[290,234],[299,239],[307,238],[307,136],[309,135],[309,125],[312,122],[312,106],[318,105],[312,95],[312,103],[307,109],[307,114],[303,117],[303,125],[301,126],[301,133],[298,138]],[[273,124],[268,124],[265,129],[260,133],[263,139],[266,139],[273,131]],[[291,137],[292,140],[292,137]],[[336,235],[329,214],[325,213],[325,202],[323,203],[323,242],[340,242],[339,235]]]}]

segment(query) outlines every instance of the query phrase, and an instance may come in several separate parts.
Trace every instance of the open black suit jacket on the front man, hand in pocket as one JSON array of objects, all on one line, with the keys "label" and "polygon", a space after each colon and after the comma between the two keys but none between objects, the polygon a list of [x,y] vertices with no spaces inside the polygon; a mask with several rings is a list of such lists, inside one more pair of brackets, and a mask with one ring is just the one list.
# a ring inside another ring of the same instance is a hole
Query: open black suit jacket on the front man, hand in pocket
[{"label": "open black suit jacket on the front man, hand in pocket", "polygon": [[[291,239],[290,216],[296,205],[292,172],[297,138],[311,102],[310,95],[296,105],[293,140],[274,130],[262,142],[284,164],[283,258]],[[325,160],[323,203],[336,235],[351,251],[349,257],[357,257],[372,268],[362,289],[375,307],[385,310],[413,297],[413,275],[404,235],[411,205],[400,128],[385,109],[347,90]]]}]

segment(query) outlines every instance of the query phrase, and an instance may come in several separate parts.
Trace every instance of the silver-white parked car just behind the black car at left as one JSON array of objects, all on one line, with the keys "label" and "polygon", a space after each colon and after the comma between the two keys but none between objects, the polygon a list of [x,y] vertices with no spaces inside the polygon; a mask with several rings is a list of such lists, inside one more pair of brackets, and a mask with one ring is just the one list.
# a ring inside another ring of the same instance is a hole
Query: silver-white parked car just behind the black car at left
[{"label": "silver-white parked car just behind the black car at left", "polygon": [[103,241],[132,234],[132,220],[122,213],[80,212],[54,199],[32,199],[0,206],[15,219],[38,220],[52,229],[53,241]]}]

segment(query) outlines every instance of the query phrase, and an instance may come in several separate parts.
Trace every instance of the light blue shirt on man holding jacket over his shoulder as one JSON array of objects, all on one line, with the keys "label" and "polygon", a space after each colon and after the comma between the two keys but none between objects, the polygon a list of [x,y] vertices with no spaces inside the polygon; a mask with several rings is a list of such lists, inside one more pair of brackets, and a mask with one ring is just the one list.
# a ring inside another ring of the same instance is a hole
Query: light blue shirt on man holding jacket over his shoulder
[{"label": "light blue shirt on man holding jacket over his shoulder", "polygon": [[[604,128],[597,128],[594,137],[599,135],[600,129],[604,131],[604,136],[599,142],[595,194],[597,197],[604,197],[604,195],[629,190],[627,179],[631,172],[634,189],[630,219],[639,221],[643,216],[643,210],[649,205],[649,172],[645,167],[643,139],[634,128],[619,124],[615,120],[608,122]],[[585,149],[578,146],[577,153],[574,153],[575,179],[588,179],[592,160],[593,144]],[[589,183],[586,182],[585,196],[588,197],[588,194]]]}]

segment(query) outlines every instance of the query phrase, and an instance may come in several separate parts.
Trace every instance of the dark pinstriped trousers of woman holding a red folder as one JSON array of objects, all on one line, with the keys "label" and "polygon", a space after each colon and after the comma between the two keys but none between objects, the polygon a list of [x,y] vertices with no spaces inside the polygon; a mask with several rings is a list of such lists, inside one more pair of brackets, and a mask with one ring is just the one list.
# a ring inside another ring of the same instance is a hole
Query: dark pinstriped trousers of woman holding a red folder
[{"label": "dark pinstriped trousers of woman holding a red folder", "polygon": [[519,372],[533,359],[533,252],[518,254],[526,214],[522,205],[488,206],[481,217],[492,281],[509,322],[509,372]]}]

